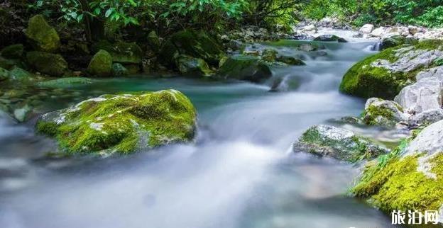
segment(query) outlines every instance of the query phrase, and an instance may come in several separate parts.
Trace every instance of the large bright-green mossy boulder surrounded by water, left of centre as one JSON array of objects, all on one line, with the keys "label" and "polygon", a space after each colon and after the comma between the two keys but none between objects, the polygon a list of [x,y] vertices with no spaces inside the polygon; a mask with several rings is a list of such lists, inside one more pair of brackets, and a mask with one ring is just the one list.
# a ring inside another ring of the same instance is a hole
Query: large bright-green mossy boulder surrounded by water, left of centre
[{"label": "large bright-green mossy boulder surrounded by water, left of centre", "polygon": [[43,115],[38,132],[55,137],[70,154],[128,154],[195,135],[197,114],[175,90],[103,95]]}]

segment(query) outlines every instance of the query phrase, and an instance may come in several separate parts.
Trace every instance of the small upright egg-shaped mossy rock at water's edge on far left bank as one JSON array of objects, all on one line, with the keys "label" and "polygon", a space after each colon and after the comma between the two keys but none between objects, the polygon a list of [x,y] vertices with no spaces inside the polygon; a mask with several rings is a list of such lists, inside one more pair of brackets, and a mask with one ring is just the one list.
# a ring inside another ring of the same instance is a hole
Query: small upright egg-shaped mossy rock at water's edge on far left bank
[{"label": "small upright egg-shaped mossy rock at water's edge on far left bank", "polygon": [[99,50],[89,62],[87,72],[94,76],[111,76],[112,57],[109,52]]}]

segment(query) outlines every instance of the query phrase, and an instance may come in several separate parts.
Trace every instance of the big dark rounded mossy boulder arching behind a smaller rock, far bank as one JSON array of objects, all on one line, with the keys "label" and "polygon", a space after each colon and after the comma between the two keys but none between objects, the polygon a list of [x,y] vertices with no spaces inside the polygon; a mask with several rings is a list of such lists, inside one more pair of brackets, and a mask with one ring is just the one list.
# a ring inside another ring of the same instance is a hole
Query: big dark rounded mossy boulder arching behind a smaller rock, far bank
[{"label": "big dark rounded mossy boulder arching behind a smaller rock, far bank", "polygon": [[163,43],[159,59],[168,67],[176,67],[175,58],[178,55],[204,59],[208,64],[217,66],[224,52],[222,46],[204,31],[182,30]]}]

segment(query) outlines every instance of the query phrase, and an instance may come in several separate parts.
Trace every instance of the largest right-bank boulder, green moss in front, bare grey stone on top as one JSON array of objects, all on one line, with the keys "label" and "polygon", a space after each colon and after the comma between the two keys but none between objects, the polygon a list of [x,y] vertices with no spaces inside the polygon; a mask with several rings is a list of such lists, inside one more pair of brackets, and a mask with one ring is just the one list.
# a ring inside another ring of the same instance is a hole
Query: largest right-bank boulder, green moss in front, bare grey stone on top
[{"label": "largest right-bank boulder, green moss in front, bare grey stone on top", "polygon": [[422,70],[443,56],[443,40],[391,47],[354,64],[344,74],[340,91],[363,98],[392,100]]}]

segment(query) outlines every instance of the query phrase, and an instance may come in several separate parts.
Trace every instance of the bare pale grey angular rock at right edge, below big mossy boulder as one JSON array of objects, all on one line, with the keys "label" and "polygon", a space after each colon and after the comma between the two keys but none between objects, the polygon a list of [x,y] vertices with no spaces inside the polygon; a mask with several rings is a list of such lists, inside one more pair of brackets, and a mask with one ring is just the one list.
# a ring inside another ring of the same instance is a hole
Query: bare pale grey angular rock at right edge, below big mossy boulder
[{"label": "bare pale grey angular rock at right edge, below big mossy boulder", "polygon": [[394,101],[411,114],[442,108],[443,83],[427,78],[403,88]]}]

